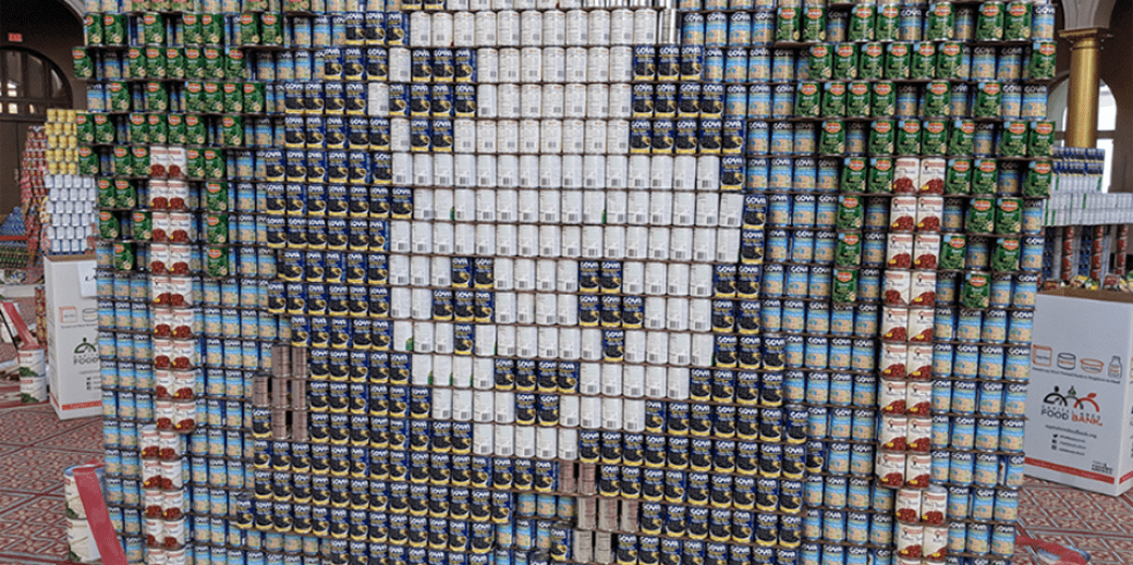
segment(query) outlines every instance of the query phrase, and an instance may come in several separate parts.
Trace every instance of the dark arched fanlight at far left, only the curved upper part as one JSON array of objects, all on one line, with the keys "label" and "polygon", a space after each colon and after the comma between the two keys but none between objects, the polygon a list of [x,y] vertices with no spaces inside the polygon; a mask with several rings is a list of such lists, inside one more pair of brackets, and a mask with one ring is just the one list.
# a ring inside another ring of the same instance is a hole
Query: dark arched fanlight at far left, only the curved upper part
[{"label": "dark arched fanlight at far left, only the curved upper part", "polygon": [[67,76],[34,51],[0,49],[0,119],[42,119],[49,108],[71,108]]}]

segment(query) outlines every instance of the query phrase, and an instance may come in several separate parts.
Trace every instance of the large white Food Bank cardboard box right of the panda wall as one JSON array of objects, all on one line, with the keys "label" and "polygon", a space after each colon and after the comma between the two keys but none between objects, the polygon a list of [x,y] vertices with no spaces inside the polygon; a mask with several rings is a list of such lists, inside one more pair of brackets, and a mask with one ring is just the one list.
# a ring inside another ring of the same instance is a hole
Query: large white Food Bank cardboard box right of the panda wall
[{"label": "large white Food Bank cardboard box right of the panda wall", "polygon": [[1117,496],[1133,486],[1133,296],[1036,299],[1026,474]]}]

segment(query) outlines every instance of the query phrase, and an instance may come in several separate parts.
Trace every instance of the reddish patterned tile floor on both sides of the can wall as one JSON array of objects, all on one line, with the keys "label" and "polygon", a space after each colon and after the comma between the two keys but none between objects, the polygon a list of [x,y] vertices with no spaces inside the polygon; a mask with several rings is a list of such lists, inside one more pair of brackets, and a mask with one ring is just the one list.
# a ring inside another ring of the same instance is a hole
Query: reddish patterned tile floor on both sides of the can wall
[{"label": "reddish patterned tile floor on both sides of the can wall", "polygon": [[[0,409],[0,565],[65,563],[62,470],[101,452],[99,418],[60,421],[46,404]],[[1028,479],[1020,516],[1025,534],[1084,549],[1094,565],[1133,565],[1133,493]],[[1021,548],[1013,565],[1037,563]]]}]

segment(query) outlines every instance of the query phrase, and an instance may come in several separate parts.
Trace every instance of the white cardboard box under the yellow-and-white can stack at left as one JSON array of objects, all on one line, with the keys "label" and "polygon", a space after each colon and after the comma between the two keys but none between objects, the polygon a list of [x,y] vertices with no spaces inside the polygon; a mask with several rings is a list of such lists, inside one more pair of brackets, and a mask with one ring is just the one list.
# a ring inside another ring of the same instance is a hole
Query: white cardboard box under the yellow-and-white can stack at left
[{"label": "white cardboard box under the yellow-and-white can stack at left", "polygon": [[[99,301],[82,276],[94,275],[90,255],[43,260],[48,317],[48,387],[62,420],[102,413],[99,373]],[[90,296],[84,296],[90,294]]]}]

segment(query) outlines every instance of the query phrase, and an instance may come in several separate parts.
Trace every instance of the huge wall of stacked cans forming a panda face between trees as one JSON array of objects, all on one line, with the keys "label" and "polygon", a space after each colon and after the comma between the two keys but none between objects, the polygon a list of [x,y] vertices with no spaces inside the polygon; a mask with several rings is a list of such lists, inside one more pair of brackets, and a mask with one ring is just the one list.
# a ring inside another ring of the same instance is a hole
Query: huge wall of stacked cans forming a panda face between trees
[{"label": "huge wall of stacked cans forming a panda face between trees", "polygon": [[1012,555],[1051,6],[88,9],[131,562]]}]

